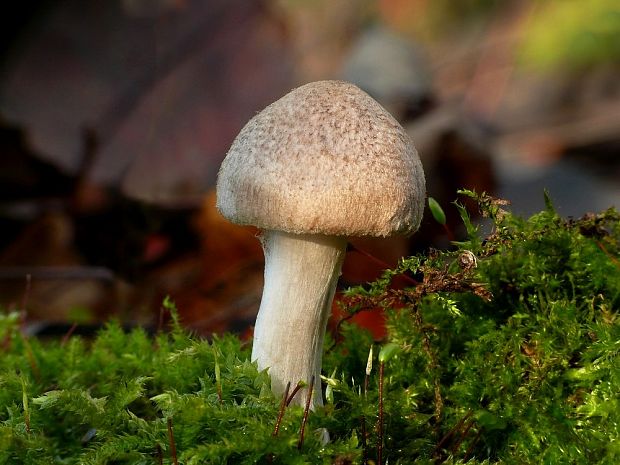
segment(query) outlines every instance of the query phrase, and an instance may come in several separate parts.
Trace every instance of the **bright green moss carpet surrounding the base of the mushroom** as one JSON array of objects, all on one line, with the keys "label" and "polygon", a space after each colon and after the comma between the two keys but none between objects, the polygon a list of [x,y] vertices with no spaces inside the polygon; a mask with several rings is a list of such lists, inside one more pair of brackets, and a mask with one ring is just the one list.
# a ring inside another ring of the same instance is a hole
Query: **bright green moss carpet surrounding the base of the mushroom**
[{"label": "bright green moss carpet surrounding the base of the mushroom", "polygon": [[[345,323],[328,341],[327,402],[301,447],[303,409],[288,407],[273,434],[280,399],[233,336],[208,342],[175,321],[150,337],[112,323],[92,341],[43,343],[9,314],[0,317],[0,463],[374,460],[377,354],[388,345],[384,461],[618,463],[620,215],[563,220],[549,202],[524,220],[463,194],[491,234],[457,204],[469,238],[456,250],[405,259],[347,292],[350,312],[387,311],[389,335],[379,344]],[[418,283],[394,288],[400,274]]]}]

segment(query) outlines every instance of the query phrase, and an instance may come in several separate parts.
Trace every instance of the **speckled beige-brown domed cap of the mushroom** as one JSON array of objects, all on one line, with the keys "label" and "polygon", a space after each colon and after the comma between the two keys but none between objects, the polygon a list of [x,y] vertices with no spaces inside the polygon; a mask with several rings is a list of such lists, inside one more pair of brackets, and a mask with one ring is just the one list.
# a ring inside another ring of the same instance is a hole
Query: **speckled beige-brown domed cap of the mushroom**
[{"label": "speckled beige-brown domed cap of the mushroom", "polygon": [[417,230],[425,192],[400,124],[355,85],[318,81],[241,129],[219,170],[217,208],[262,229],[389,236]]}]

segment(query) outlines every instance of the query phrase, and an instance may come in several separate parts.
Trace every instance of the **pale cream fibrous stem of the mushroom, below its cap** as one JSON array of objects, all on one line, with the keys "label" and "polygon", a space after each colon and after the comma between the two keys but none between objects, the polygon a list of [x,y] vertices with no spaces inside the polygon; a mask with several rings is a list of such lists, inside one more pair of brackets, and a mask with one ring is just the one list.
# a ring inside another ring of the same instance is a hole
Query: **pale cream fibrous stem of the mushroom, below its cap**
[{"label": "pale cream fibrous stem of the mushroom, below its cap", "polygon": [[[265,285],[254,328],[252,360],[269,369],[274,394],[314,376],[311,408],[323,405],[323,338],[347,241],[320,234],[266,230]],[[295,403],[304,405],[308,389]]]}]

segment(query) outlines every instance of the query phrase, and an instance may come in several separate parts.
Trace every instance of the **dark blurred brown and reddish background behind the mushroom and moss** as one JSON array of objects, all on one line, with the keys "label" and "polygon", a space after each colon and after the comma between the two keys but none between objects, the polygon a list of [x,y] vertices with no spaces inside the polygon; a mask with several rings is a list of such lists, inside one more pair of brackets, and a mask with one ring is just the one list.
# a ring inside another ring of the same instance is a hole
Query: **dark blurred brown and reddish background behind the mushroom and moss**
[{"label": "dark blurred brown and reddish background behind the mushroom and moss", "polygon": [[[214,209],[217,169],[267,104],[352,81],[406,128],[429,195],[470,188],[526,216],[620,200],[617,0],[39,0],[0,19],[0,308],[35,334],[113,316],[157,330],[170,295],[200,334],[247,333],[251,228]],[[428,213],[428,212],[427,212]],[[450,247],[356,241],[341,288]],[[377,338],[381,316],[359,323]]]}]

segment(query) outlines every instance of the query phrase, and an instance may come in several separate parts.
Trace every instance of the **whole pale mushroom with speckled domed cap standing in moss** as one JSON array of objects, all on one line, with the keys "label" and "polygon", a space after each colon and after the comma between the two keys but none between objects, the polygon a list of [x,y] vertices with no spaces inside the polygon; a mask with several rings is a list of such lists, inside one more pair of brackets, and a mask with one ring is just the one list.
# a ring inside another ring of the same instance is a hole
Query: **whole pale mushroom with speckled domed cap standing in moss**
[{"label": "whole pale mushroom with speckled domed cap standing in moss", "polygon": [[[241,129],[217,180],[217,208],[257,226],[265,283],[252,360],[272,391],[314,379],[348,237],[411,234],[425,200],[422,164],[398,122],[343,81],[294,89]],[[306,402],[309,390],[297,396]]]}]

